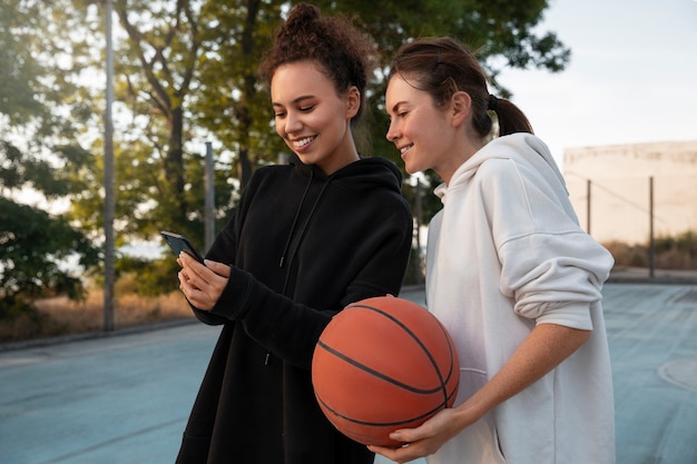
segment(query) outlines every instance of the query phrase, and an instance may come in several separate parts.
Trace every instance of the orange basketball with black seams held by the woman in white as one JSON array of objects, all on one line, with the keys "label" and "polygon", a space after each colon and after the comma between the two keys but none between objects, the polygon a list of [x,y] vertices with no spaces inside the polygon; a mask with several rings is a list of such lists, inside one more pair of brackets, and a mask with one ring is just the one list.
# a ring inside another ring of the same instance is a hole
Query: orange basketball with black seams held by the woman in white
[{"label": "orange basketball with black seams held by the woman in white", "polygon": [[346,306],[325,327],[312,359],[322,412],[365,445],[401,445],[390,433],[451,407],[459,382],[445,327],[416,303],[393,296]]}]

